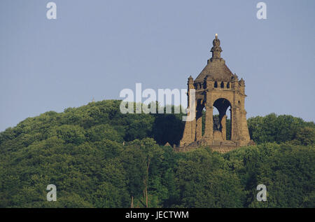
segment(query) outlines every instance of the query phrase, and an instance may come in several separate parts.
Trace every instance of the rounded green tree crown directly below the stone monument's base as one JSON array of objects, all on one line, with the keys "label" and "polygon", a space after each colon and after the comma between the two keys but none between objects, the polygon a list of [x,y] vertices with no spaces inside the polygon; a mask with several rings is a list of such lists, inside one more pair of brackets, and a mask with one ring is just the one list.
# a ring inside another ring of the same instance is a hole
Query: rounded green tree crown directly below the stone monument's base
[{"label": "rounded green tree crown directly below the stone monument's base", "polygon": [[228,162],[205,149],[188,153],[176,167],[179,207],[242,207],[244,189]]}]

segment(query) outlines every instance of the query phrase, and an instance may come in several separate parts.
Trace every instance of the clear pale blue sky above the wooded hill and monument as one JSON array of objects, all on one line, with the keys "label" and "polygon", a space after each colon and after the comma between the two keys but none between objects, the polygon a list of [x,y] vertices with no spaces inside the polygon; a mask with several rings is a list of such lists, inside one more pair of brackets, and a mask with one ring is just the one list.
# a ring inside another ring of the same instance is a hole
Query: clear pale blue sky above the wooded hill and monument
[{"label": "clear pale blue sky above the wooded hill and monument", "polygon": [[123,88],[186,88],[211,57],[246,83],[247,117],[290,114],[314,121],[315,1],[0,1],[0,131],[29,116]]}]

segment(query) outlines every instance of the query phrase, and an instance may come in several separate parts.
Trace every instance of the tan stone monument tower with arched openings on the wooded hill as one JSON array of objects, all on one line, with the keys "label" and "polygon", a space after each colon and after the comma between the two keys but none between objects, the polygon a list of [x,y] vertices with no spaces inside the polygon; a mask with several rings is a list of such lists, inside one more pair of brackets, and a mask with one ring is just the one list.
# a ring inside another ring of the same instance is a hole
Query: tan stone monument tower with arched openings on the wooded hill
[{"label": "tan stone monument tower with arched openings on the wooded hill", "polygon": [[[189,151],[199,146],[210,146],[214,151],[228,152],[239,146],[253,144],[248,133],[246,122],[245,82],[232,74],[221,58],[221,46],[218,35],[211,48],[212,57],[206,67],[197,76],[188,78],[188,108],[195,109],[192,121],[187,121],[183,138],[175,151]],[[189,107],[189,90],[195,89],[195,107]],[[214,118],[214,107],[218,117]],[[230,109],[228,110],[228,108]],[[204,134],[202,134],[202,113],[205,109]],[[230,138],[226,137],[227,111],[230,111]]]}]

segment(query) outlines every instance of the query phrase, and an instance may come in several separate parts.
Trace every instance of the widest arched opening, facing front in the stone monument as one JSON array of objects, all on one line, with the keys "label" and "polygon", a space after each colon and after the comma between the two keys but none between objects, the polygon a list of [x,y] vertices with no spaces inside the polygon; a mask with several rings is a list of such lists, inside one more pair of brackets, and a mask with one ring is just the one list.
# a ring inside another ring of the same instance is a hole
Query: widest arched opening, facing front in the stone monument
[{"label": "widest arched opening, facing front in the stone monument", "polygon": [[[223,139],[231,139],[232,120],[230,109],[230,101],[228,99],[220,98],[214,102],[214,132],[220,131]],[[215,110],[218,113],[215,113]]]}]

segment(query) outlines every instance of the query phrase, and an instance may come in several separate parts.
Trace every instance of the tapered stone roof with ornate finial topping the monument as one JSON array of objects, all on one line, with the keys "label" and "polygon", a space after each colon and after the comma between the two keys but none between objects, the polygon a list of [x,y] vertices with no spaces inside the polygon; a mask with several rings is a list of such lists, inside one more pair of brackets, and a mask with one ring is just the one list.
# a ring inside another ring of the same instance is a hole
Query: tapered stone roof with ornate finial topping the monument
[{"label": "tapered stone roof with ornate finial topping the monument", "polygon": [[230,81],[233,74],[230,69],[226,66],[225,60],[221,58],[222,49],[220,47],[220,40],[216,34],[216,39],[213,41],[214,47],[211,48],[212,57],[208,60],[208,64],[202,72],[197,76],[195,82],[203,82],[204,78],[209,76],[215,81]]}]

